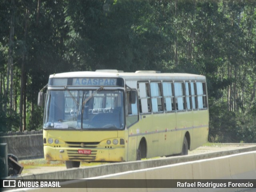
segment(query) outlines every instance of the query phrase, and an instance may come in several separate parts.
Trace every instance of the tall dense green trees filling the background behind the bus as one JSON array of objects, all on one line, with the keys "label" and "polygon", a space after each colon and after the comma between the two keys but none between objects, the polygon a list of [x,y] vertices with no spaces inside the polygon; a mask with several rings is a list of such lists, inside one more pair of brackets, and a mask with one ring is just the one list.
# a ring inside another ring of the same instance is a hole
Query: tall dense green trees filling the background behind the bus
[{"label": "tall dense green trees filling the background behind the bus", "polygon": [[[207,77],[210,140],[254,142],[256,2],[10,2],[0,0],[2,130],[18,130],[24,62],[27,130],[41,127],[43,109],[36,106],[36,98],[50,74],[106,68],[159,70]],[[13,40],[9,39],[11,20]],[[10,58],[12,108],[5,93]]]}]

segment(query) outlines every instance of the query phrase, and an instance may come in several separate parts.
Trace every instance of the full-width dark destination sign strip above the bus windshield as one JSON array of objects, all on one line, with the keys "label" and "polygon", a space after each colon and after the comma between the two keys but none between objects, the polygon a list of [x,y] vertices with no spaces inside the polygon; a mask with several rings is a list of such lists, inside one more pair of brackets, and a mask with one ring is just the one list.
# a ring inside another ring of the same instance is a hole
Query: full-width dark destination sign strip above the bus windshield
[{"label": "full-width dark destination sign strip above the bus windshield", "polygon": [[48,86],[124,86],[122,78],[50,78]]}]

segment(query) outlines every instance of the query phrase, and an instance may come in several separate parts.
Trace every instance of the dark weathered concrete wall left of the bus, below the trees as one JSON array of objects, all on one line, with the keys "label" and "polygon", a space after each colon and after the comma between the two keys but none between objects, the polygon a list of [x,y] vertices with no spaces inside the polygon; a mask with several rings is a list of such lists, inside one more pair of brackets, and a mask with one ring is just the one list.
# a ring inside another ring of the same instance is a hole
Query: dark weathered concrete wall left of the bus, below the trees
[{"label": "dark weathered concrete wall left of the bus, below the trees", "polygon": [[14,154],[19,160],[44,157],[42,134],[2,136],[0,142],[7,143],[8,153]]}]

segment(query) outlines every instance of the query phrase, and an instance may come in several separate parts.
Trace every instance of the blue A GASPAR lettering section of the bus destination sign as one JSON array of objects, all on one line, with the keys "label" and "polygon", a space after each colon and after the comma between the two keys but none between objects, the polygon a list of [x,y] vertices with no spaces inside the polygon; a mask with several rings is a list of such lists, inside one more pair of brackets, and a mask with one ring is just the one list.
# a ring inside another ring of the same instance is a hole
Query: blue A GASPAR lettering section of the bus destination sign
[{"label": "blue A GASPAR lettering section of the bus destination sign", "polygon": [[73,78],[74,86],[116,86],[116,78]]}]

